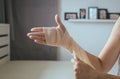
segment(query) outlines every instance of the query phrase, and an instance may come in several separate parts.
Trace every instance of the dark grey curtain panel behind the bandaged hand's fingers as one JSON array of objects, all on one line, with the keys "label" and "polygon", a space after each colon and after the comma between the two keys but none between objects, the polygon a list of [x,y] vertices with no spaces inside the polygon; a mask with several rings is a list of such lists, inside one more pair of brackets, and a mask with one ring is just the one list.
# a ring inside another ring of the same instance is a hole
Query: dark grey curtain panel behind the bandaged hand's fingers
[{"label": "dark grey curtain panel behind the bandaged hand's fingers", "polygon": [[56,25],[56,0],[6,0],[11,24],[11,60],[56,60],[57,48],[35,44],[26,34],[35,26]]}]

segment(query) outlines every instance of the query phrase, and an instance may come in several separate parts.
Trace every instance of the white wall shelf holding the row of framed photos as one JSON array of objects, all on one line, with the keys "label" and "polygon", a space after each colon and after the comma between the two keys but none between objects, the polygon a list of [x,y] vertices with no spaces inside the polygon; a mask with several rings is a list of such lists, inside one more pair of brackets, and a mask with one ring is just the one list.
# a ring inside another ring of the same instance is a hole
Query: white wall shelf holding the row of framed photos
[{"label": "white wall shelf holding the row of framed photos", "polygon": [[115,23],[116,20],[90,20],[90,19],[70,19],[69,22],[80,22],[80,23]]}]

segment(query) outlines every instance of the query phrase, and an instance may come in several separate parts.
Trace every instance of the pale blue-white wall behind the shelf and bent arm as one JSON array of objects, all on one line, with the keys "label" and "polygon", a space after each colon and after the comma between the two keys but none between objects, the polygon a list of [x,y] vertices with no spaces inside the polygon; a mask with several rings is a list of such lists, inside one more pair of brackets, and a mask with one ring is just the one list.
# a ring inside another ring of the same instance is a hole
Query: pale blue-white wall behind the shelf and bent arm
[{"label": "pale blue-white wall behind the shelf and bent arm", "polygon": [[[64,20],[64,12],[78,12],[80,8],[96,6],[109,12],[120,12],[120,0],[60,0],[59,13],[63,24],[79,45],[98,56],[104,47],[114,23],[71,23]],[[58,48],[58,60],[70,60],[72,56]],[[116,74],[116,70],[112,73]]]}]

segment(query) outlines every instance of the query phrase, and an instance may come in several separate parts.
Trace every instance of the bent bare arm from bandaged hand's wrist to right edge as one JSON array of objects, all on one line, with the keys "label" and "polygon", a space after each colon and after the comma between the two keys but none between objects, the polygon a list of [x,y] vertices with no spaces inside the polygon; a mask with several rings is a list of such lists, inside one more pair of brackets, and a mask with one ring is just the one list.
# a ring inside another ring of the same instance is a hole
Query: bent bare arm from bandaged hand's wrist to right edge
[{"label": "bent bare arm from bandaged hand's wrist to right edge", "polygon": [[83,60],[98,71],[108,72],[116,62],[120,52],[120,18],[115,23],[111,35],[99,57],[82,49],[74,40],[72,40],[71,46],[73,46],[72,51],[75,52],[80,60]]}]

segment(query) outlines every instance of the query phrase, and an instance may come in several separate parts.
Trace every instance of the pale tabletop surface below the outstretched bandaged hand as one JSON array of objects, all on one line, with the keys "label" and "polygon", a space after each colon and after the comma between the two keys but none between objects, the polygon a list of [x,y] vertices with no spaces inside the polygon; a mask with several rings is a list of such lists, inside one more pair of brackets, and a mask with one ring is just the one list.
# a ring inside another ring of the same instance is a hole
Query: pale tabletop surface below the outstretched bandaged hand
[{"label": "pale tabletop surface below the outstretched bandaged hand", "polygon": [[0,66],[0,79],[74,79],[69,61],[10,61]]}]

